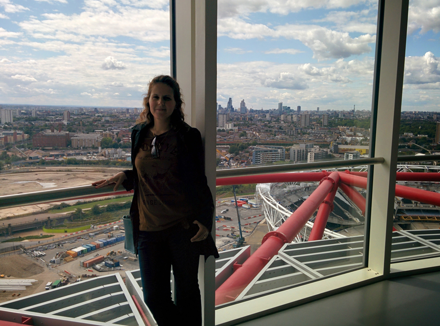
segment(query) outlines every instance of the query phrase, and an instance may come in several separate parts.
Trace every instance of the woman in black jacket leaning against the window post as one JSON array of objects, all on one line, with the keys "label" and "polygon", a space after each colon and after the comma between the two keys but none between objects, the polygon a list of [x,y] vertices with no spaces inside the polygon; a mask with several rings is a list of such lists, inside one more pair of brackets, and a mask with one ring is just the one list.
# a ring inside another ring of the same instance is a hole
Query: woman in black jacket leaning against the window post
[{"label": "woman in black jacket leaning against the window post", "polygon": [[[219,256],[204,174],[201,136],[186,124],[180,88],[160,75],[150,82],[132,128],[132,170],[93,183],[134,189],[130,216],[144,300],[159,326],[201,325],[199,255]],[[170,270],[175,302],[170,296]]]}]

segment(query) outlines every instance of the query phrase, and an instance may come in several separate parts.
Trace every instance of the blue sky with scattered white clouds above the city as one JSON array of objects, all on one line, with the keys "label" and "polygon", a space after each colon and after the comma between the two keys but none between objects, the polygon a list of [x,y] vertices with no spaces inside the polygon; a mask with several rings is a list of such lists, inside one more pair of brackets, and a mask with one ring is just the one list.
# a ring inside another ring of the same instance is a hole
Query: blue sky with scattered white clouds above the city
[{"label": "blue sky with scattered white clouds above the city", "polygon": [[[218,0],[217,100],[371,110],[377,2]],[[0,0],[0,103],[140,107],[168,0]],[[440,111],[440,0],[410,0],[402,110]]]}]

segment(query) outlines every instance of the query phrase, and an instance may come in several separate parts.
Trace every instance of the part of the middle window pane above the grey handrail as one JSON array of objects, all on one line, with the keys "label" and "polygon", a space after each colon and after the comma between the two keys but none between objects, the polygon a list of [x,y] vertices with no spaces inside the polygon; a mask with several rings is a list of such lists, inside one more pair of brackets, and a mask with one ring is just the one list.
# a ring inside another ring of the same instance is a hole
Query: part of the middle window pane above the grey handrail
[{"label": "part of the middle window pane above the grey handrail", "polygon": [[368,157],[377,5],[355,2],[219,1],[219,168]]}]

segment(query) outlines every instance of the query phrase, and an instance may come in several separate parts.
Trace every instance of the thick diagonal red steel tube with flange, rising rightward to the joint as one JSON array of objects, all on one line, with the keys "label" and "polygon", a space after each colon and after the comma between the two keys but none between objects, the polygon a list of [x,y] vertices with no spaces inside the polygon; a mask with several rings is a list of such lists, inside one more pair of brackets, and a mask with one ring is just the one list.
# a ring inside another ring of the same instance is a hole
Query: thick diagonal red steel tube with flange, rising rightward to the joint
[{"label": "thick diagonal red steel tube with flange, rising rightward to the joint", "polygon": [[216,290],[216,305],[235,300],[244,288],[275,256],[286,242],[291,242],[310,216],[339,182],[338,172],[324,178],[306,201],[295,210],[277,231],[267,233],[262,245]]}]

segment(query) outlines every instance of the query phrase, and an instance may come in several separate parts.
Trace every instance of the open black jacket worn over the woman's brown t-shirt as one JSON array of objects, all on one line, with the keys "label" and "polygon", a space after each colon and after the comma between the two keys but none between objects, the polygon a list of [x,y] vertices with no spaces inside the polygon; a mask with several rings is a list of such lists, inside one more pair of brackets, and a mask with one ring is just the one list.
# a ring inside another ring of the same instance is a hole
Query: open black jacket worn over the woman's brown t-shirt
[{"label": "open black jacket worn over the woman's brown t-shirt", "polygon": [[[137,124],[132,128],[132,169],[125,170],[127,180],[122,186],[128,191],[134,189],[132,206],[130,207],[130,217],[133,225],[133,241],[134,250],[137,255],[137,240],[139,236],[139,211],[137,206],[138,199],[138,177],[134,161],[139,151],[139,145],[148,133],[149,125]],[[190,127],[187,123],[182,122],[176,128],[177,146],[185,151],[184,159],[179,163],[182,170],[182,179],[188,185],[188,191],[194,196],[192,203],[197,204],[198,213],[188,217],[191,224],[198,220],[210,232],[205,240],[198,241],[198,250],[200,255],[219,257],[216,244],[211,236],[212,222],[214,215],[214,201],[212,199],[211,190],[208,187],[203,159],[203,146],[200,132],[196,128]]]}]

